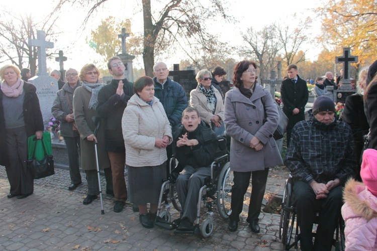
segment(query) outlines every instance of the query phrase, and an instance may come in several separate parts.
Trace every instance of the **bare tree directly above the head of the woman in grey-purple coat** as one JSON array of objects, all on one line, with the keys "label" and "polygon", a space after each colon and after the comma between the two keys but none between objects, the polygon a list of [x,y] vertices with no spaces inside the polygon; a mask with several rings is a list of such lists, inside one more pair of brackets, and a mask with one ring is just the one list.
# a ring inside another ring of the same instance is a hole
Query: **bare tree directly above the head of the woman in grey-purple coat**
[{"label": "bare tree directly above the head of the woman in grey-purple coat", "polygon": [[259,77],[266,79],[268,70],[273,68],[274,59],[281,49],[276,37],[274,25],[265,26],[262,30],[256,31],[252,27],[242,34],[247,46],[240,50],[245,57],[251,57],[259,65]]}]

